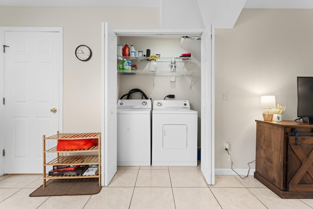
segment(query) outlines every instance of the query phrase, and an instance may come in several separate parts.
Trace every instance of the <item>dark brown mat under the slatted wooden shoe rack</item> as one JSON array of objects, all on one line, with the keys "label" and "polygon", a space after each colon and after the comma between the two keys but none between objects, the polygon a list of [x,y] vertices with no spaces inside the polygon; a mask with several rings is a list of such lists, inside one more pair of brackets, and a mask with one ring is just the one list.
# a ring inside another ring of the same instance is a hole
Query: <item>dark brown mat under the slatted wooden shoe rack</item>
[{"label": "dark brown mat under the slatted wooden shoe rack", "polygon": [[87,179],[50,179],[45,188],[40,186],[29,197],[62,196],[62,195],[90,195],[101,191],[97,178]]}]

